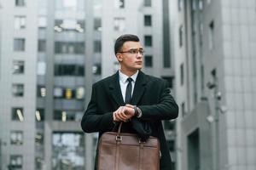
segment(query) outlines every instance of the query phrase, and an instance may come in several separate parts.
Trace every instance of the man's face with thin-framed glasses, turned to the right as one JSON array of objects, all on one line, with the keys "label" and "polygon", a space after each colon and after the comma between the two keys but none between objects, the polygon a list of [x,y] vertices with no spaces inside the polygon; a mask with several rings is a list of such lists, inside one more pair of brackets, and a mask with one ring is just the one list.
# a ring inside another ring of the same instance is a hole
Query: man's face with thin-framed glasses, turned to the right
[{"label": "man's face with thin-framed glasses, turned to the right", "polygon": [[125,42],[116,57],[123,71],[137,71],[143,68],[143,47],[140,42]]}]

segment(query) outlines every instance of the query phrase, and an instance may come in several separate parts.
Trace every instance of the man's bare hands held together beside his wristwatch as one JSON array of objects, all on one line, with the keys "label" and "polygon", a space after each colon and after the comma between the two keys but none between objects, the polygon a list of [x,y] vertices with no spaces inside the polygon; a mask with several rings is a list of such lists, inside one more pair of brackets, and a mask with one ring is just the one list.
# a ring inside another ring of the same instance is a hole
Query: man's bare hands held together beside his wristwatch
[{"label": "man's bare hands held together beside his wristwatch", "polygon": [[135,111],[132,105],[120,106],[118,110],[113,111],[113,121],[114,122],[127,122],[135,115]]}]

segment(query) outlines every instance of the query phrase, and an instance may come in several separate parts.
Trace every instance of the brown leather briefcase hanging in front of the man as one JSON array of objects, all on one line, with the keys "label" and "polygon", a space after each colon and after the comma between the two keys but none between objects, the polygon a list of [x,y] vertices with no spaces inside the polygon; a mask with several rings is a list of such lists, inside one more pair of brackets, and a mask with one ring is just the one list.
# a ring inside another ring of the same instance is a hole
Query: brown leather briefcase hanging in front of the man
[{"label": "brown leather briefcase hanging in front of the man", "polygon": [[140,141],[136,134],[103,133],[99,141],[98,170],[159,170],[160,143],[154,137]]}]

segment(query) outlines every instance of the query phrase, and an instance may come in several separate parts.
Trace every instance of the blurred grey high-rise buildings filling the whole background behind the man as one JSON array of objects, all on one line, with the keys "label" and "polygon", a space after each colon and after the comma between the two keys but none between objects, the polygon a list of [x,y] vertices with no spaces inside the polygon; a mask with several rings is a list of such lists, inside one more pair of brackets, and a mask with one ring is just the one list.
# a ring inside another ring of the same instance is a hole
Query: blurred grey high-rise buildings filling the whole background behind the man
[{"label": "blurred grey high-rise buildings filling the whole background behind the man", "polygon": [[174,169],[256,169],[255,0],[0,0],[0,170],[93,169],[79,121],[125,33],[180,106]]}]

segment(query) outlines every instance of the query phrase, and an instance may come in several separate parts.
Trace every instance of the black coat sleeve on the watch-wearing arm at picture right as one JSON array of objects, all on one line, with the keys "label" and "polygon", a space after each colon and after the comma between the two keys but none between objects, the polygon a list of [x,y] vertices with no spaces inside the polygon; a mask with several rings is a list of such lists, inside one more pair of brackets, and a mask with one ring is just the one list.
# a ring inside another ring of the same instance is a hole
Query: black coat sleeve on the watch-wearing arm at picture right
[{"label": "black coat sleeve on the watch-wearing arm at picture right", "polygon": [[[155,96],[154,96],[155,97]],[[167,82],[161,82],[161,91],[159,102],[155,105],[138,105],[143,115],[140,120],[170,120],[178,116],[178,106],[170,94]]]}]

